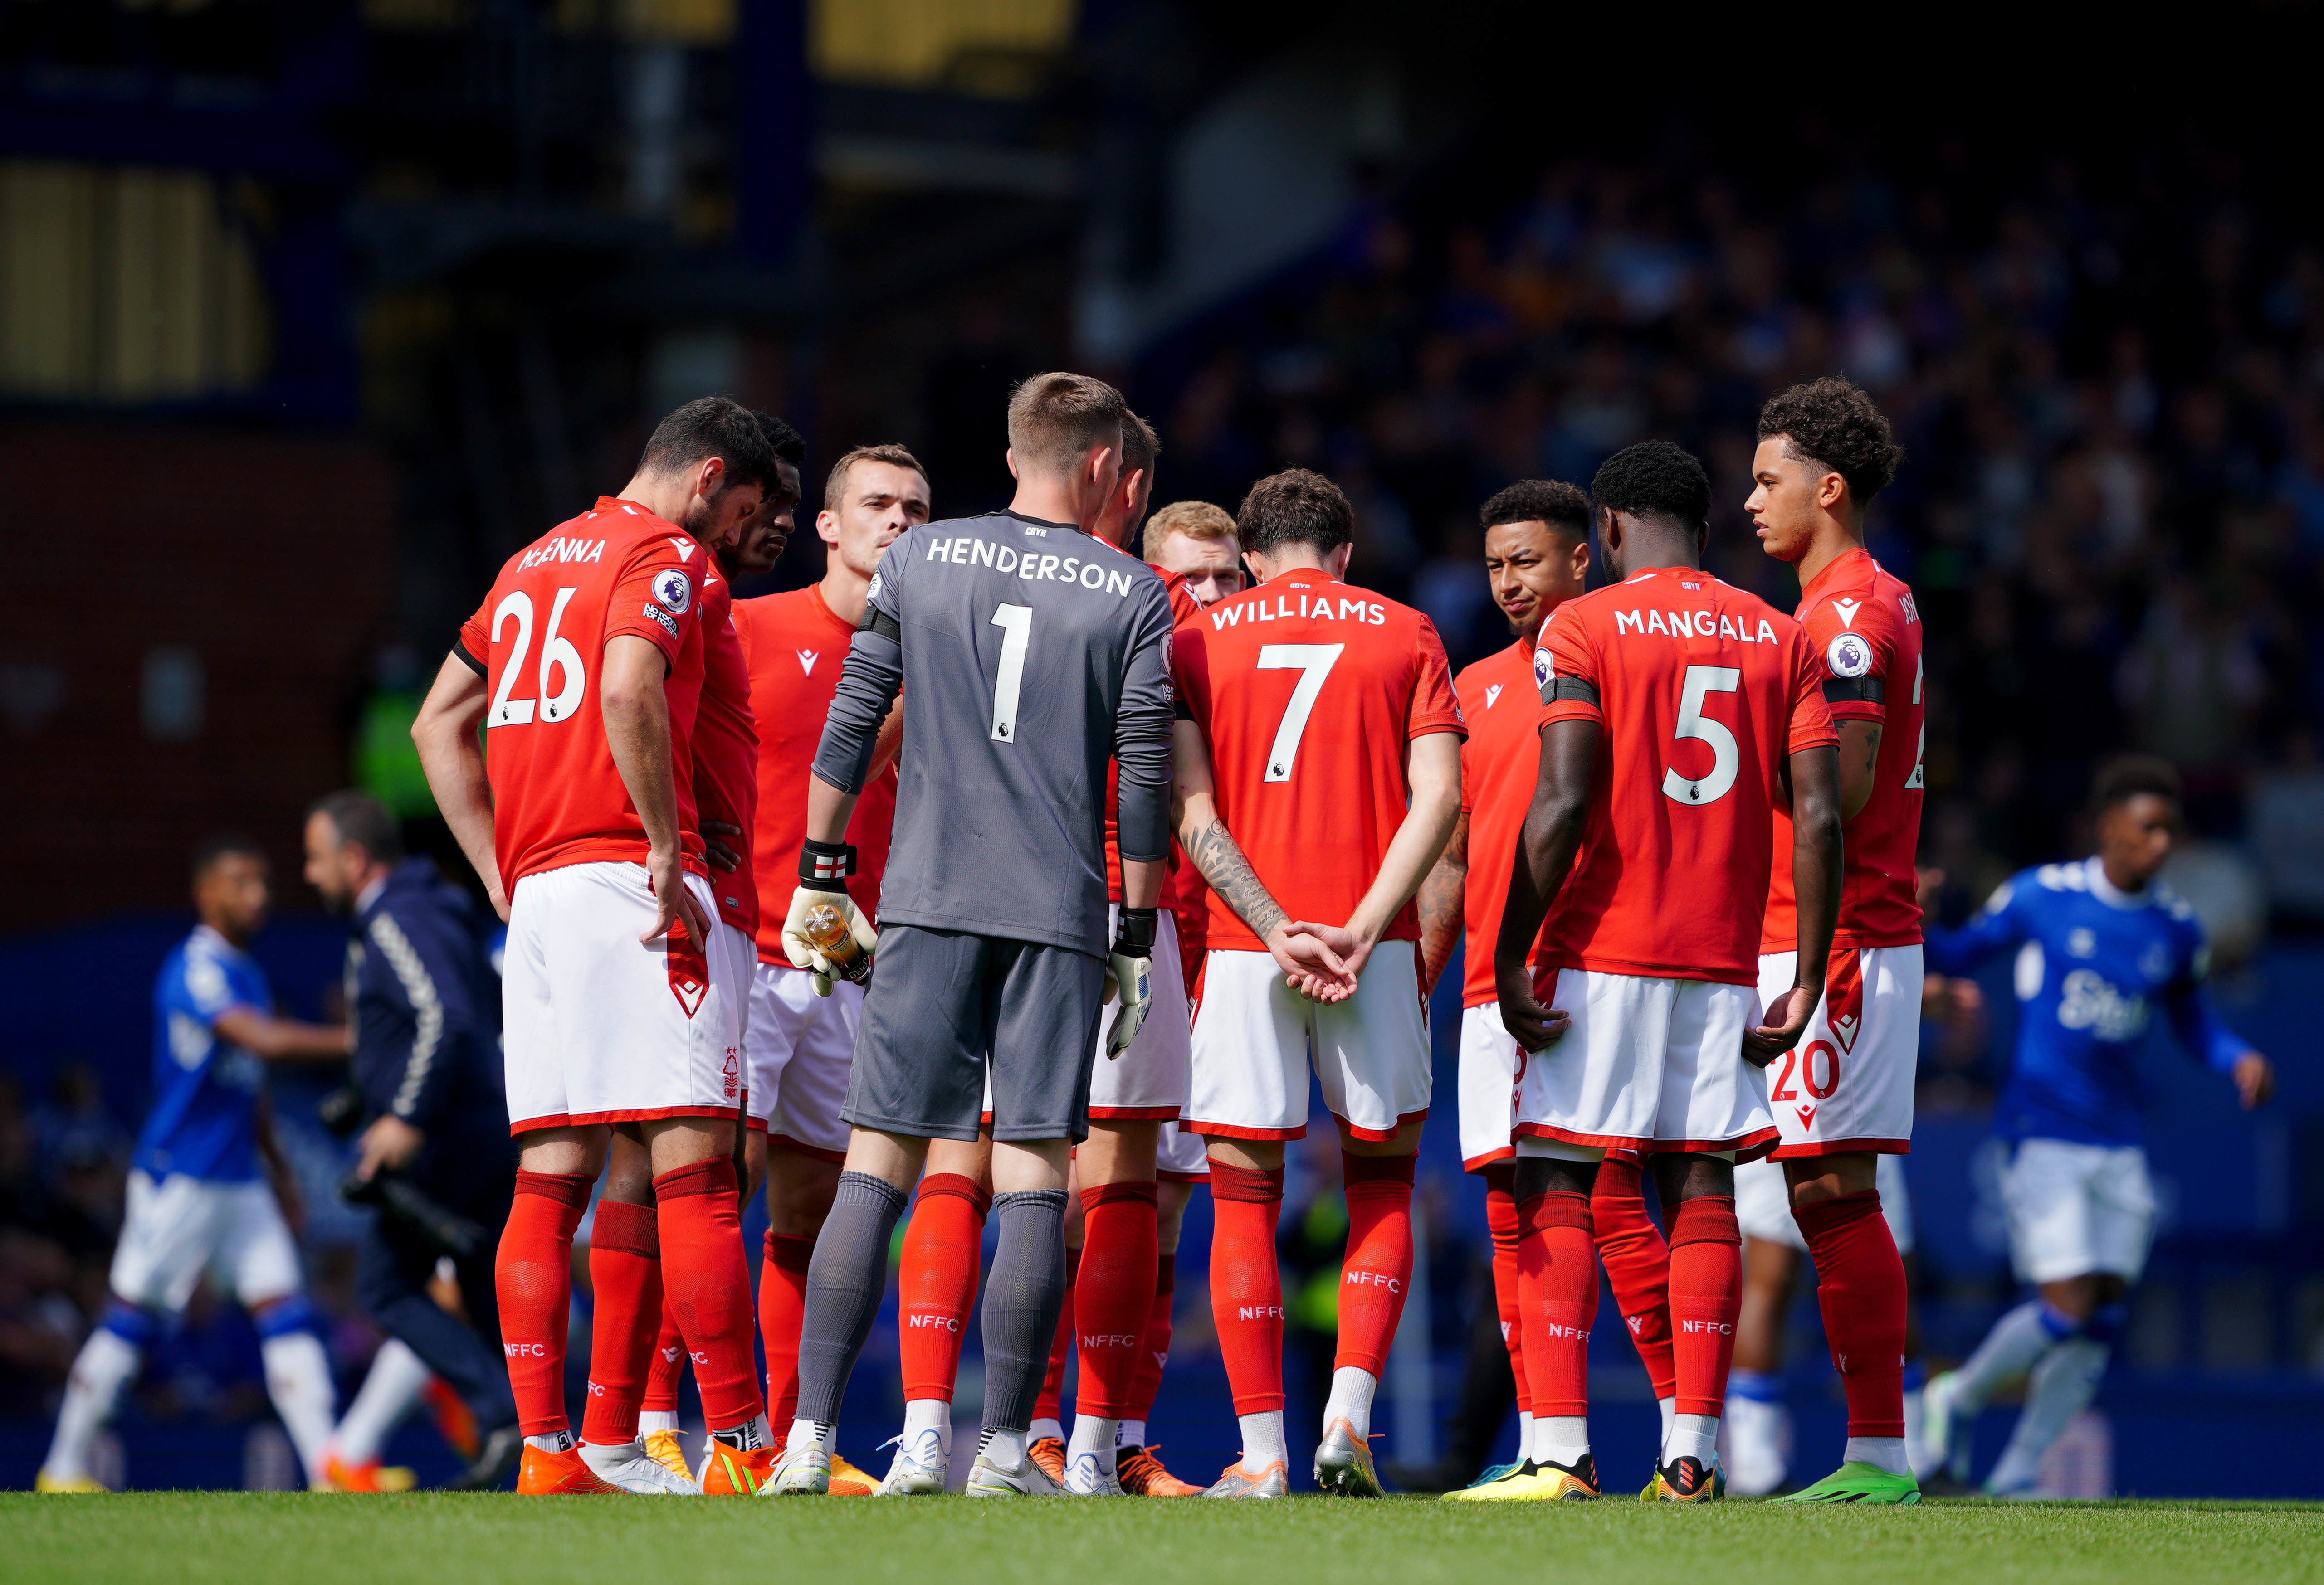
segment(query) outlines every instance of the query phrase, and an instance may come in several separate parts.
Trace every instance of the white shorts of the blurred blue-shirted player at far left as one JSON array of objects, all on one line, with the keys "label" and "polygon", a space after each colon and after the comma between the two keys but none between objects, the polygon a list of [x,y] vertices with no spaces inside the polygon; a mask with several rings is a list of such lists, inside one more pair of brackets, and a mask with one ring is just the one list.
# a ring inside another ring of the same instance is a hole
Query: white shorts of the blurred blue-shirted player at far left
[{"label": "white shorts of the blurred blue-shirted player at far left", "polygon": [[170,1174],[160,1183],[130,1174],[121,1241],[114,1246],[114,1294],[179,1313],[202,1271],[216,1271],[242,1308],[302,1288],[297,1243],[274,1190],[265,1183],[214,1183]]}]

